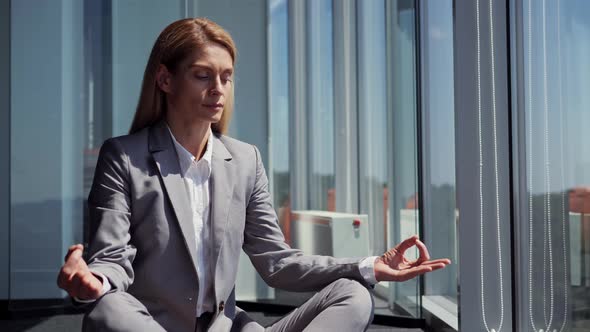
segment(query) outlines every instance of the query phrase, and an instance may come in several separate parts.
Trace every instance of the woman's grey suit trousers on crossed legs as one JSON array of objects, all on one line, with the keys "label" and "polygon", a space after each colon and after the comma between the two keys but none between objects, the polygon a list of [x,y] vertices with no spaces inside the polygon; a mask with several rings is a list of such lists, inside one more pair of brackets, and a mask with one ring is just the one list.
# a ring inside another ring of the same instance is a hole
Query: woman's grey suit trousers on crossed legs
[{"label": "woman's grey suit trousers on crossed legs", "polygon": [[[232,331],[365,331],[373,319],[373,310],[373,296],[367,288],[357,281],[339,279],[268,327],[239,312]],[[197,319],[195,331],[206,331],[208,323],[206,319]],[[146,307],[125,292],[110,293],[98,301],[84,316],[82,330],[164,331]]]}]

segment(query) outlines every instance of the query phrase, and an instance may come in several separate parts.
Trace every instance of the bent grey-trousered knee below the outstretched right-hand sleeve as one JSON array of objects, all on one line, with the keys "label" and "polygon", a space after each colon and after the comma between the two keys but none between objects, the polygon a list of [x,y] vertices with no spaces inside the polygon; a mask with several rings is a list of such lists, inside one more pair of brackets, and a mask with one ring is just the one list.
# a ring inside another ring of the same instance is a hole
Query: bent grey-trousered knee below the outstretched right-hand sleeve
[{"label": "bent grey-trousered knee below the outstretched right-hand sleeve", "polygon": [[371,291],[356,280],[338,279],[333,283],[333,291],[341,297],[342,303],[350,309],[350,318],[361,325],[373,320],[375,302]]}]

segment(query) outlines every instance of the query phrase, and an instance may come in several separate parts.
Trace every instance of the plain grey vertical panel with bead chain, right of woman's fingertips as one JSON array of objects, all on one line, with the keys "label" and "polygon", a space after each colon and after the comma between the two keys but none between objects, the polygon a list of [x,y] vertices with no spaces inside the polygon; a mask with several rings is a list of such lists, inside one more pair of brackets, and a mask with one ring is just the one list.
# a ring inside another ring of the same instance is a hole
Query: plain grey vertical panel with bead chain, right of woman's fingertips
[{"label": "plain grey vertical panel with bead chain, right of woman's fingertips", "polygon": [[465,331],[514,330],[507,8],[454,5],[459,321]]}]

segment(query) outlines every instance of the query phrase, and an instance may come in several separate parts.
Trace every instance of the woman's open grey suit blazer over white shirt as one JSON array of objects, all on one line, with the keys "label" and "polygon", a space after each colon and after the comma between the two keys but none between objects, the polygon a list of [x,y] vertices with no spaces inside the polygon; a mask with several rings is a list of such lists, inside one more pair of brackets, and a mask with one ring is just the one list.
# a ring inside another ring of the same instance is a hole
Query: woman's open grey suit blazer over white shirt
[{"label": "woman's open grey suit blazer over white shirt", "polygon": [[[240,249],[272,287],[315,291],[342,277],[364,283],[360,259],[306,256],[290,248],[258,149],[226,136],[211,139],[210,259],[217,305],[210,329],[229,331],[241,311],[234,296]],[[180,174],[164,122],[105,141],[88,197],[88,265],[109,279],[111,291],[135,296],[166,330],[194,331],[195,232]]]}]

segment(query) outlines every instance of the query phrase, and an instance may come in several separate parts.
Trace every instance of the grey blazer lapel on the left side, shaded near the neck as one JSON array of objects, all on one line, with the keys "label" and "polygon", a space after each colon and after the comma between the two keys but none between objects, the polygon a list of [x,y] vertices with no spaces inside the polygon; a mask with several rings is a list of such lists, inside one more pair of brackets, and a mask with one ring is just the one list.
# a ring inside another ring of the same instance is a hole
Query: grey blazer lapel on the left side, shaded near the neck
[{"label": "grey blazer lapel on the left side, shaded near the neck", "polygon": [[170,137],[170,132],[165,122],[161,121],[150,128],[149,149],[156,165],[158,165],[166,194],[170,199],[170,204],[180,225],[184,242],[190,253],[193,269],[196,274],[197,253],[195,228],[188,192],[180,171],[176,149],[174,148],[172,137]]}]

